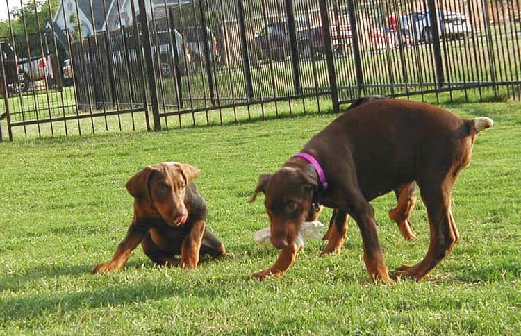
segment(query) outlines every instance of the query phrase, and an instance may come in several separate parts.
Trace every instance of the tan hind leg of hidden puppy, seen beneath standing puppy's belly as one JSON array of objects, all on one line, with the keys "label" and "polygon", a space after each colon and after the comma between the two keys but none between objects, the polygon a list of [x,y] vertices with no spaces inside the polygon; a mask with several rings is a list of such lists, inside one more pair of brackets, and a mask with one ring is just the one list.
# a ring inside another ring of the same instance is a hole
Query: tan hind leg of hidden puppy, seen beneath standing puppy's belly
[{"label": "tan hind leg of hidden puppy, seen beneath standing puppy's belly", "polygon": [[400,233],[406,240],[415,240],[416,234],[411,227],[409,217],[416,204],[416,183],[406,183],[395,189],[396,208],[389,211],[389,218],[396,221]]}]

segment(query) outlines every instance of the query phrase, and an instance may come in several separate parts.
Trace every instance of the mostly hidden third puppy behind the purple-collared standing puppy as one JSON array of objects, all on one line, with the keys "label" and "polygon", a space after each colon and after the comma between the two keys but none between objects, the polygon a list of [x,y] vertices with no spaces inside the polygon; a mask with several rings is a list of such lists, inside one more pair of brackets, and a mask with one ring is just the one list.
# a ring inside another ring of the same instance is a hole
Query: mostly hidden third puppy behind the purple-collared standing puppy
[{"label": "mostly hidden third puppy behind the purple-collared standing puppy", "polygon": [[[352,110],[353,108],[356,108],[357,106],[361,106],[363,103],[369,103],[370,101],[377,101],[381,99],[388,99],[386,96],[381,95],[373,95],[373,96],[363,96],[358,99],[356,99],[351,105],[349,105],[349,108],[345,110],[345,112],[349,112],[349,110]],[[409,221],[409,217],[411,216],[411,212],[414,209],[414,206],[416,205],[416,183],[406,183],[404,185],[400,185],[399,187],[396,187],[394,189],[397,205],[394,209],[391,209],[389,211],[389,218],[396,222],[398,225],[398,229],[400,233],[402,233],[402,236],[406,240],[415,240],[417,238],[416,234],[413,231],[413,228],[411,227],[411,222]],[[329,221],[329,228],[327,232],[324,234],[324,237],[322,237],[322,240],[329,240],[329,235],[331,235],[331,232],[333,232],[332,240],[334,242],[337,242],[338,239],[342,239],[342,243],[336,244],[336,246],[329,246],[329,248],[324,249],[322,252],[323,254],[329,254],[329,253],[336,253],[340,254],[340,247],[343,244],[344,238],[336,237],[338,236],[338,232],[334,230],[334,220],[337,214],[337,210],[333,210],[333,215],[331,215],[331,220]],[[346,230],[347,230],[347,222],[346,222]],[[346,231],[347,233],[347,231]],[[335,248],[338,248],[335,249]]]}]

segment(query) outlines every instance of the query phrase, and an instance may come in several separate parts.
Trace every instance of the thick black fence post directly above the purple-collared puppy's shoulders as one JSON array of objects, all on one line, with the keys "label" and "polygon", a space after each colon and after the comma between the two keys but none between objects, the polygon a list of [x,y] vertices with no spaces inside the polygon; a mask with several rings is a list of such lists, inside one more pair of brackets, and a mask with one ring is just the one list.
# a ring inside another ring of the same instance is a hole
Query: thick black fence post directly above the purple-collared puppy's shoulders
[{"label": "thick black fence post directly above the purple-collared puppy's shoulders", "polygon": [[333,55],[333,44],[331,43],[331,24],[329,23],[329,9],[326,0],[319,0],[320,17],[322,18],[322,35],[324,36],[324,51],[326,53],[327,74],[329,86],[331,87],[331,100],[333,101],[333,112],[340,113],[340,101],[338,100],[338,85],[336,83],[335,56]]}]

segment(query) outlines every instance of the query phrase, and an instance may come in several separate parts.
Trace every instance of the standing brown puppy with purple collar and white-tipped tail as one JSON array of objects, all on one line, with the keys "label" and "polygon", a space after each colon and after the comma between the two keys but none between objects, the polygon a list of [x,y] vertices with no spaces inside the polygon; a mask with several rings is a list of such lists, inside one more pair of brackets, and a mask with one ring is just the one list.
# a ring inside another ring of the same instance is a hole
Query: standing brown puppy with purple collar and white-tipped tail
[{"label": "standing brown puppy with purple collar and white-tipped tail", "polygon": [[274,174],[261,174],[252,199],[265,194],[271,241],[279,259],[256,278],[280,276],[295,261],[299,227],[313,203],[338,209],[335,235],[322,253],[338,251],[354,218],[363,240],[365,266],[375,281],[391,282],[369,201],[415,181],[431,228],[424,259],[404,265],[396,276],[422,279],[459,239],[451,212],[451,192],[460,171],[470,164],[479,131],[492,119],[461,119],[427,103],[381,99],[343,113],[317,133],[300,153]]}]

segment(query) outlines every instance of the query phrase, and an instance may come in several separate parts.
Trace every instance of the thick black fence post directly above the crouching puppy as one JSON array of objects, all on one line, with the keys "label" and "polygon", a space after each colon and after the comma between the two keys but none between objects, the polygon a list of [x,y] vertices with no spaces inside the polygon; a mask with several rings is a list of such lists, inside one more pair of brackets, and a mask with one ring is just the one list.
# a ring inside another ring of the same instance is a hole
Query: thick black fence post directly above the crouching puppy
[{"label": "thick black fence post directly above the crouching puppy", "polygon": [[[144,61],[147,64],[147,78],[150,90],[150,103],[152,105],[152,117],[154,118],[154,131],[161,131],[161,120],[159,117],[159,99],[156,87],[156,74],[154,73],[154,59],[152,58],[152,44],[150,42],[149,19],[147,17],[147,7],[144,0],[138,0],[140,9],[140,21],[143,36]],[[148,106],[145,106],[148,111]]]}]

